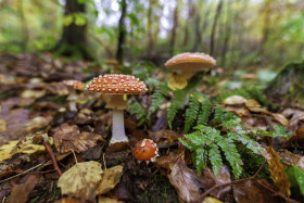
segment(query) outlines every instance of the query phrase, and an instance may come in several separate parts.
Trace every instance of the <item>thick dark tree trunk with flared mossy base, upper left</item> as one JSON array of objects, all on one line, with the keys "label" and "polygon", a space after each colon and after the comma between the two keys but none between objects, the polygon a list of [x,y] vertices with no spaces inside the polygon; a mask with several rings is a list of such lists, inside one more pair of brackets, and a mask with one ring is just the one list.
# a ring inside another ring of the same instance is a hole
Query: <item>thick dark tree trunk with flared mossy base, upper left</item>
[{"label": "thick dark tree trunk with flared mossy base, upper left", "polygon": [[[85,12],[86,4],[78,3],[78,0],[66,0],[65,16]],[[52,51],[60,55],[93,60],[93,56],[87,47],[87,24],[76,25],[74,17],[73,23],[63,27],[62,37]]]}]

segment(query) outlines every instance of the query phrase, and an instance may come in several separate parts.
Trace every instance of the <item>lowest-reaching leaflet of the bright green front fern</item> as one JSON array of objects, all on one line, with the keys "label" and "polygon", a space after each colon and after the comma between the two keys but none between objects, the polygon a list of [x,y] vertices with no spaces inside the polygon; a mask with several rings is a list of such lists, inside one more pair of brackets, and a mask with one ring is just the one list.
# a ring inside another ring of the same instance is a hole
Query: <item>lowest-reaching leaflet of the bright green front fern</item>
[{"label": "lowest-reaching leaflet of the bright green front fern", "polygon": [[232,172],[237,178],[239,178],[243,172],[241,166],[242,160],[237,150],[236,144],[229,138],[225,140],[220,140],[218,142],[221,151],[224,152],[226,160],[229,162],[230,166],[232,167]]}]

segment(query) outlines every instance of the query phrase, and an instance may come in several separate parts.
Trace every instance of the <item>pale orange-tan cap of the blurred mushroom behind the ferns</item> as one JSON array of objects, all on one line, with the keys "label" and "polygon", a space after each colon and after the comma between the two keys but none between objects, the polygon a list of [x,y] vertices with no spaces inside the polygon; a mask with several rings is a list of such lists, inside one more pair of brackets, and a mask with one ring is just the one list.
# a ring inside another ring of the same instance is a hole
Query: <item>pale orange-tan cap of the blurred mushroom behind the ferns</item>
[{"label": "pale orange-tan cap of the blurred mushroom behind the ferns", "polygon": [[170,71],[203,71],[215,66],[216,61],[205,53],[179,53],[169,59],[165,66]]}]

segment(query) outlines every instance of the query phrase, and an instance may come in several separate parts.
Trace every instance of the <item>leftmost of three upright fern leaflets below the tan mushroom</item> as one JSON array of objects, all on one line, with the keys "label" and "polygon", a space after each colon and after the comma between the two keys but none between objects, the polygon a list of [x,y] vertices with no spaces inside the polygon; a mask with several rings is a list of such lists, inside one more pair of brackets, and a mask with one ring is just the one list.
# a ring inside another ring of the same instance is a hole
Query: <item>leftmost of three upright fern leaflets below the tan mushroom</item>
[{"label": "leftmost of three upright fern leaflets below the tan mushroom", "polygon": [[175,92],[174,100],[167,110],[167,120],[168,125],[172,128],[172,122],[174,120],[178,110],[181,109],[182,104],[187,100],[187,92],[178,90]]}]

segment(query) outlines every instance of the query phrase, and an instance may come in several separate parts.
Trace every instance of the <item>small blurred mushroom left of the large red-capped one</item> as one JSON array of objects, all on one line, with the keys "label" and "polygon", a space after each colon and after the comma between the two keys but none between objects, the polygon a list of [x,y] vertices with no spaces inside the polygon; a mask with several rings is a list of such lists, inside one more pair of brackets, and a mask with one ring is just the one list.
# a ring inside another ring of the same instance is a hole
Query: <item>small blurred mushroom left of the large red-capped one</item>
[{"label": "small blurred mushroom left of the large red-capped one", "polygon": [[62,83],[68,87],[68,90],[71,92],[69,96],[67,97],[69,111],[76,112],[77,111],[77,107],[76,107],[77,94],[75,92],[75,89],[83,90],[84,83],[78,81],[78,80],[73,80],[73,79],[63,80]]}]

